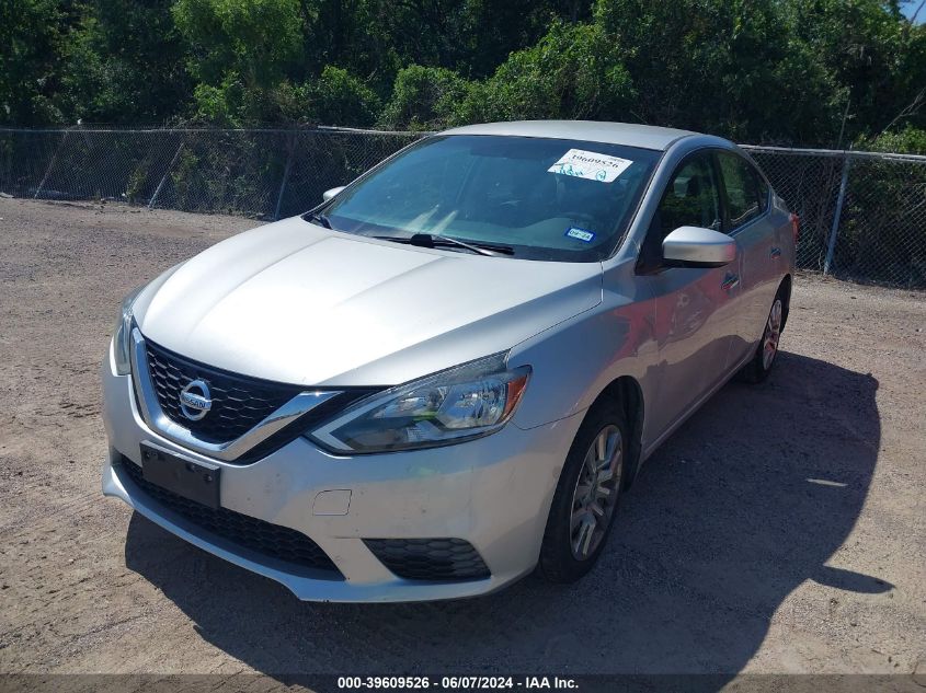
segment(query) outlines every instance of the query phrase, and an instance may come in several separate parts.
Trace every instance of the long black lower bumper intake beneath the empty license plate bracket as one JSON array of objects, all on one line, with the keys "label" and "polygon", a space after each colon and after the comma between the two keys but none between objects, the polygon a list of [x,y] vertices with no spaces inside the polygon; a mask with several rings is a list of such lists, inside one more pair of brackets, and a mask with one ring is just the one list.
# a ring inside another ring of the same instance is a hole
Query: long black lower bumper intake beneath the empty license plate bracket
[{"label": "long black lower bumper intake beneath the empty license plate bracket", "polygon": [[207,532],[263,556],[296,566],[332,570],[340,575],[331,558],[301,532],[228,508],[215,510],[187,500],[146,481],[141,467],[128,458],[122,458],[122,467],[141,493]]}]

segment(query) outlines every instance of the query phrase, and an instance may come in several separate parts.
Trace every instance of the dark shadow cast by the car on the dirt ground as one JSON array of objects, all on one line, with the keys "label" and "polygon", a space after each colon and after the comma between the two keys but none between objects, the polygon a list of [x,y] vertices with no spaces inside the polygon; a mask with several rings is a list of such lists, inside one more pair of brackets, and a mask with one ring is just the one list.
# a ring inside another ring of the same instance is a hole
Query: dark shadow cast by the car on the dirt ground
[{"label": "dark shadow cast by the car on the dirt ground", "polygon": [[[294,673],[740,671],[805,580],[881,592],[825,564],[877,463],[878,381],[782,353],[731,383],[644,465],[599,565],[576,585],[537,576],[488,597],[315,604],[135,515],[126,564],[202,637],[254,669]],[[801,614],[784,614],[800,620]]]}]

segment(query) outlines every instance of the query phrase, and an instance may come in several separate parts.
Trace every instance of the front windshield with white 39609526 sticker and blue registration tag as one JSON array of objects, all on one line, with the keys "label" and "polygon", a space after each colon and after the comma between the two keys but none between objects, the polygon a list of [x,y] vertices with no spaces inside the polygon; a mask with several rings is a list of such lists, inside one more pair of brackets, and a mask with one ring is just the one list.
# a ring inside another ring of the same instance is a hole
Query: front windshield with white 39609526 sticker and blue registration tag
[{"label": "front windshield with white 39609526 sticker and blue registration tag", "polygon": [[348,233],[423,233],[510,246],[526,259],[599,261],[624,236],[660,153],[563,139],[432,137],[318,212]]}]

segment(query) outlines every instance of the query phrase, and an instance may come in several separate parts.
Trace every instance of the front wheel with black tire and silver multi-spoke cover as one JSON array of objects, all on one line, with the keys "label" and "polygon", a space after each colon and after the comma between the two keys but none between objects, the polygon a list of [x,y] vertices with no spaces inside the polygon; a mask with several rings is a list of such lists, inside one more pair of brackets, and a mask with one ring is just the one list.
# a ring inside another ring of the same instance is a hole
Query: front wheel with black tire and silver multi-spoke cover
[{"label": "front wheel with black tire and silver multi-spoke cover", "polygon": [[540,547],[538,567],[548,581],[574,582],[592,569],[605,547],[625,485],[628,434],[622,408],[614,402],[596,404],[582,421],[553,494]]}]

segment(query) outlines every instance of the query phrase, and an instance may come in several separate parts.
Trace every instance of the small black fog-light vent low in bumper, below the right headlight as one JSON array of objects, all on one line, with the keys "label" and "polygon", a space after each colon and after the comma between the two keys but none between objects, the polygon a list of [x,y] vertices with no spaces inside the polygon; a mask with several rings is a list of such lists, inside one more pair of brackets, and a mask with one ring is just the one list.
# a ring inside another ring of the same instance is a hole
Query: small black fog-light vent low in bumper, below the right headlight
[{"label": "small black fog-light vent low in bumper, below the right headlight", "polygon": [[396,575],[408,580],[478,580],[489,568],[462,539],[365,539],[364,543]]}]

